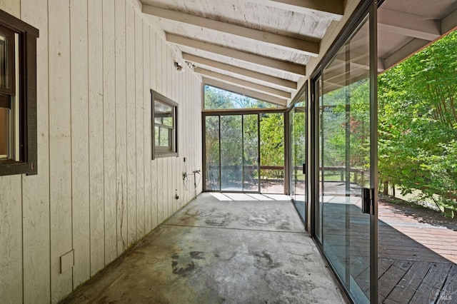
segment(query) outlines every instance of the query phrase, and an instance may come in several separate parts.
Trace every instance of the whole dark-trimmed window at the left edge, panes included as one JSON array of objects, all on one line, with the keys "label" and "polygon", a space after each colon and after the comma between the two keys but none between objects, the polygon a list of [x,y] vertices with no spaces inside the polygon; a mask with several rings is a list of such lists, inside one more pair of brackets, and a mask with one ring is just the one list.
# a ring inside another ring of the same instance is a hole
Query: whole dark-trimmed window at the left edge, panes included
[{"label": "whole dark-trimmed window at the left edge, panes included", "polygon": [[0,10],[0,176],[36,174],[38,29]]}]

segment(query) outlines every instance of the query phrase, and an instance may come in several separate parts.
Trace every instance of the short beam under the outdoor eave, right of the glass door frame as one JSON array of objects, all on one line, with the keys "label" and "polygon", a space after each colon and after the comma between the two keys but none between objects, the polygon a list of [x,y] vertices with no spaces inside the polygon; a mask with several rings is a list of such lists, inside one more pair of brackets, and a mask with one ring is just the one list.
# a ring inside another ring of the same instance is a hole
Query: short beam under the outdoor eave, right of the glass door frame
[{"label": "short beam under the outdoor eave, right of the glass door frame", "polygon": [[378,9],[378,28],[393,34],[428,41],[441,36],[439,21],[391,9]]}]

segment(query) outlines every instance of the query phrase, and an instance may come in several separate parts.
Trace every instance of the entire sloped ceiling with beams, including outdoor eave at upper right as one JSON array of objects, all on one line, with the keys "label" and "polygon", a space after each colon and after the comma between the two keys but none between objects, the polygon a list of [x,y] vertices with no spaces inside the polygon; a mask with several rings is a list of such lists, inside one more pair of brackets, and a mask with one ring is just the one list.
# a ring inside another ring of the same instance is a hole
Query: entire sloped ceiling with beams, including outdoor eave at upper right
[{"label": "entire sloped ceiling with beams, including outdoor eave at upper right", "polygon": [[[204,83],[286,106],[316,66],[327,31],[357,0],[141,0],[144,14]],[[386,0],[383,71],[457,25],[457,0]],[[335,35],[333,35],[335,36]],[[328,42],[328,41],[327,41]]]}]

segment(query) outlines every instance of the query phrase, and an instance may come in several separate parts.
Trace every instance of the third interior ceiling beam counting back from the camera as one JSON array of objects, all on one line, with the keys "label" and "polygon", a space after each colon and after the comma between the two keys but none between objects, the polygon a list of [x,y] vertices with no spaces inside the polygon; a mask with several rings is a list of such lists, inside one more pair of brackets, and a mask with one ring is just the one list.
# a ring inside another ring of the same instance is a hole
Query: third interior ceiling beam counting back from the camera
[{"label": "third interior ceiling beam counting back from the camera", "polygon": [[177,36],[174,34],[166,34],[166,41],[171,42],[172,44],[179,44],[181,46],[188,46],[194,49],[200,49],[202,51],[208,51],[210,53],[219,54],[222,56],[227,56],[229,58],[238,59],[241,61],[246,61],[248,63],[258,64],[259,66],[266,66],[271,69],[277,69],[280,71],[285,71],[290,74],[295,74],[298,76],[304,76],[306,74],[306,67],[299,64],[291,64],[285,61],[280,61],[276,59],[269,59],[263,56],[258,56],[254,54],[249,54],[243,51],[238,51],[236,49],[229,49],[224,46],[218,46],[216,44],[209,44],[204,41],[196,41],[194,39],[189,39],[182,36]]}]

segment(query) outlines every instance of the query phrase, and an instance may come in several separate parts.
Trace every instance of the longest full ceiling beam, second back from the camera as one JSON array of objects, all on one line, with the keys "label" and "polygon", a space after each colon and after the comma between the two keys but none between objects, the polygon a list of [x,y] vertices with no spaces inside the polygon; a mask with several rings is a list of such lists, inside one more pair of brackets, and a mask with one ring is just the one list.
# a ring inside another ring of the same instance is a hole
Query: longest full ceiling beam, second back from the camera
[{"label": "longest full ceiling beam, second back from the camera", "polygon": [[238,26],[235,24],[228,24],[226,22],[211,20],[194,16],[191,14],[184,14],[179,11],[171,11],[169,9],[161,9],[155,6],[144,5],[143,13],[159,18],[169,19],[183,24],[191,24],[199,26],[202,29],[210,29],[213,31],[220,31],[226,34],[231,34],[245,39],[258,41],[265,44],[278,47],[280,49],[288,49],[296,51],[307,56],[318,56],[319,44],[316,42],[295,39],[287,36],[269,33],[267,31],[259,31],[250,29],[245,26]]}]

